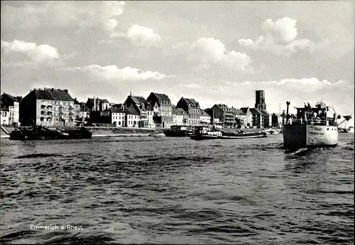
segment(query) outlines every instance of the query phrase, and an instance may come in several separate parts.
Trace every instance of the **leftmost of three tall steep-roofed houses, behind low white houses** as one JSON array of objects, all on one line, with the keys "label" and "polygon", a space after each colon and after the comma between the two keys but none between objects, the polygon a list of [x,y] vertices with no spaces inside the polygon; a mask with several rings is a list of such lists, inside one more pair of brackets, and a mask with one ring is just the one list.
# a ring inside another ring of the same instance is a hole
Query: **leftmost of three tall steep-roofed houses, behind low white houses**
[{"label": "leftmost of three tall steep-roofed houses, behind low white houses", "polygon": [[140,114],[141,121],[140,125],[138,125],[139,127],[155,128],[153,121],[153,107],[146,101],[146,99],[141,96],[129,95],[124,104],[127,108],[133,107]]}]

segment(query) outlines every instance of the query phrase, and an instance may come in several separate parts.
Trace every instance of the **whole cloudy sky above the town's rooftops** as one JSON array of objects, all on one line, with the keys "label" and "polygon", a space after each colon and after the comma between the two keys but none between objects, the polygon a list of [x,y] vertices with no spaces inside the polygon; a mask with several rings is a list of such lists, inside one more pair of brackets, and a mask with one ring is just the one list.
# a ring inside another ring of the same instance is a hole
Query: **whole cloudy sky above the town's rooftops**
[{"label": "whole cloudy sky above the town's rooftops", "polygon": [[1,94],[354,114],[354,1],[1,1]]}]

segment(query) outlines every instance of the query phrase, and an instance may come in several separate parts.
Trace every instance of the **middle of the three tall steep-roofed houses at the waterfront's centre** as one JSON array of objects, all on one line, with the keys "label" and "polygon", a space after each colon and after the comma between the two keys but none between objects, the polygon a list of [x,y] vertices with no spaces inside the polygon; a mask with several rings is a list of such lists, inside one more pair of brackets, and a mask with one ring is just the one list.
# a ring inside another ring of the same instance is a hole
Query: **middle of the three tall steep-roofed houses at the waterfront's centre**
[{"label": "middle of the three tall steep-roofed houses at the waterfront's centre", "polygon": [[147,98],[147,102],[153,107],[155,126],[170,128],[173,125],[173,107],[168,95],[151,92]]}]

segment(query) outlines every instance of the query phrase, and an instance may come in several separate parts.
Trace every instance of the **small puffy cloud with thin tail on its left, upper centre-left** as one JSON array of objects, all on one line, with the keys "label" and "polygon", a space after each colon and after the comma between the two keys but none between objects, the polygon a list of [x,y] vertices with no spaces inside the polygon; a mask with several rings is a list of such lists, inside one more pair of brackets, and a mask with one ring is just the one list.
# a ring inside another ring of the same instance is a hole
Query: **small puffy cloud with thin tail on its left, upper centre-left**
[{"label": "small puffy cloud with thin tail on its left, upper centre-left", "polygon": [[133,25],[128,28],[126,33],[112,32],[109,38],[127,38],[131,40],[131,43],[136,46],[154,46],[160,42],[160,36],[154,33],[152,28],[146,28],[144,26]]}]

